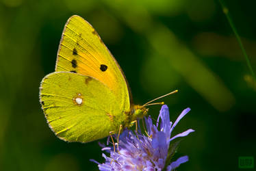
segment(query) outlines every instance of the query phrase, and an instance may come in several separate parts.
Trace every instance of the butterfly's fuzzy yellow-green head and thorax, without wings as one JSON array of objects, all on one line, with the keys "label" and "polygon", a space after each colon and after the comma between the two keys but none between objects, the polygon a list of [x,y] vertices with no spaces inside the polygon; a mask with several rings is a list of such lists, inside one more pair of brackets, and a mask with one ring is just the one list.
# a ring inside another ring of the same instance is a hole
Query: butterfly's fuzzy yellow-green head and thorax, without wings
[{"label": "butterfly's fuzzy yellow-green head and thorax, without wings", "polygon": [[125,113],[124,127],[129,128],[133,125],[133,121],[142,119],[148,113],[149,109],[141,105],[133,105],[131,110]]}]

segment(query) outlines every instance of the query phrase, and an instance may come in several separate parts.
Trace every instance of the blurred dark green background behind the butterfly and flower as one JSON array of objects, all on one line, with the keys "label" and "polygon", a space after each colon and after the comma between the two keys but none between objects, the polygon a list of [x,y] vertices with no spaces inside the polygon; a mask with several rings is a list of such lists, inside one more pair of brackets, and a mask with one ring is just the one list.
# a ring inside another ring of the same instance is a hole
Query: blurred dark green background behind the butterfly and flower
[{"label": "blurred dark green background behind the butterfly and flower", "polygon": [[[225,3],[256,70],[256,3]],[[192,109],[175,128],[196,130],[181,142],[176,157],[190,161],[178,170],[238,170],[238,157],[255,157],[256,84],[218,1],[1,0],[0,170],[97,170],[89,159],[103,161],[98,142],[55,137],[40,109],[40,81],[73,14],[98,31],[136,104],[178,89],[162,99],[170,119]]]}]

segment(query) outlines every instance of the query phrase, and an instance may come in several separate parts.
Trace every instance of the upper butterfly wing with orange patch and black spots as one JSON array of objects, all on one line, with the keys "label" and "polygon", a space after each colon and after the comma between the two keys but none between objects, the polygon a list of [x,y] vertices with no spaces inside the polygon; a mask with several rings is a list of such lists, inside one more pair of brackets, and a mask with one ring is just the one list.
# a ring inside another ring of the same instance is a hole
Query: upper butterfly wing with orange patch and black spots
[{"label": "upper butterfly wing with orange patch and black spots", "polygon": [[120,66],[97,31],[80,16],[71,16],[64,27],[55,71],[79,73],[98,79],[119,98],[123,109],[129,111],[131,94]]}]

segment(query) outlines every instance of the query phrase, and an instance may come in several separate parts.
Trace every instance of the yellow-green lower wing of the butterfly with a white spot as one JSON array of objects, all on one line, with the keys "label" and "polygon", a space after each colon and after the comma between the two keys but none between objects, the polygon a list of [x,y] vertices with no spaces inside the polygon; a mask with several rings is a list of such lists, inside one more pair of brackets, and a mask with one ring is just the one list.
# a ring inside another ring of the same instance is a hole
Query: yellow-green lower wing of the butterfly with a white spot
[{"label": "yellow-green lower wing of the butterfly with a white spot", "polygon": [[40,102],[55,134],[68,142],[90,142],[118,130],[124,115],[110,88],[93,77],[57,72],[44,77]]}]

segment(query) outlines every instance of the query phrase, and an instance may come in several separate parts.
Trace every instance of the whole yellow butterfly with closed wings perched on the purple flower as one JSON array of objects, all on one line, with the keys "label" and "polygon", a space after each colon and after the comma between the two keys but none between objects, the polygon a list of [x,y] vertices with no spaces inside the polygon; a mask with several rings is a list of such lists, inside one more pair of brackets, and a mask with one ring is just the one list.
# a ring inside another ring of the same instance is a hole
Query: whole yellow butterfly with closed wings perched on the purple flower
[{"label": "whole yellow butterfly with closed wings perched on the purple flower", "polygon": [[92,25],[76,15],[64,27],[55,73],[42,79],[40,103],[49,127],[68,142],[91,142],[131,127],[149,104],[133,105],[115,58]]}]

